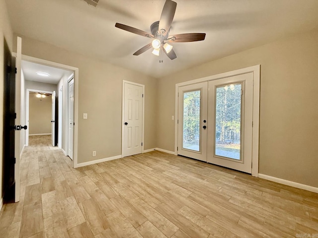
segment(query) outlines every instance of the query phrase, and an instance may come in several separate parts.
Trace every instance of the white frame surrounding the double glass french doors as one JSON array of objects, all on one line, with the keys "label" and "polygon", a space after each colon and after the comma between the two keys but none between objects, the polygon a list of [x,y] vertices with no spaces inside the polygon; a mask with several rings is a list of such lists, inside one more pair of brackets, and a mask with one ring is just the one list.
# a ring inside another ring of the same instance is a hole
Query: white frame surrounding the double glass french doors
[{"label": "white frame surrounding the double glass french doors", "polygon": [[252,176],[258,177],[260,64],[175,84],[174,155],[178,154],[178,88],[249,72],[253,73]]}]

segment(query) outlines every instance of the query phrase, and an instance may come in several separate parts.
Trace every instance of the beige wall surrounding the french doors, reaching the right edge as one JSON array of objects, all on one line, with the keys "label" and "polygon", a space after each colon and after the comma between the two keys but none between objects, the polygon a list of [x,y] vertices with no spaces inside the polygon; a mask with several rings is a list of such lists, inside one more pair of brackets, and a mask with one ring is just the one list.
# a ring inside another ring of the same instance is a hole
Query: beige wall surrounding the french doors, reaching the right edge
[{"label": "beige wall surrounding the french doors, reaching the right edge", "polygon": [[176,83],[260,64],[259,173],[318,187],[317,42],[313,31],[159,79],[158,147],[174,151]]}]

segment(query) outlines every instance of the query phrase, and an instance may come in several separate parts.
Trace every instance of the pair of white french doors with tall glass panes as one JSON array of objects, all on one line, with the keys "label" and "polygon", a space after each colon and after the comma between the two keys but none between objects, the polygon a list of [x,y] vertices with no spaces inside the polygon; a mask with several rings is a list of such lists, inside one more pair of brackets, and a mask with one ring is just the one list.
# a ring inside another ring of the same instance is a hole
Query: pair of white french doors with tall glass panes
[{"label": "pair of white french doors with tall glass panes", "polygon": [[251,173],[253,73],[178,89],[178,154]]}]

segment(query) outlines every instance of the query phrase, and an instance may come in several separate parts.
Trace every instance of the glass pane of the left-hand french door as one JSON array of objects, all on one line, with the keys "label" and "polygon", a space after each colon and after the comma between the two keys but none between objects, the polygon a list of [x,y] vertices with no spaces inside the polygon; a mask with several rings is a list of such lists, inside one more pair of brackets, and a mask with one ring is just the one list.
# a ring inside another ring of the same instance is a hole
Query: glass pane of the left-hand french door
[{"label": "glass pane of the left-hand french door", "polygon": [[200,90],[183,93],[184,149],[200,151],[200,97]]}]

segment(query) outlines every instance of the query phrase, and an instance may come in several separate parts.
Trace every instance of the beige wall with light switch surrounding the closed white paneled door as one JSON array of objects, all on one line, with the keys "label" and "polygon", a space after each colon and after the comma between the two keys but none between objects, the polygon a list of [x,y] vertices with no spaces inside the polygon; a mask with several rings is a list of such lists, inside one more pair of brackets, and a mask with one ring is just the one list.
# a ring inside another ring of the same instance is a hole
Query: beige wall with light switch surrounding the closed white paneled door
[{"label": "beige wall with light switch surrounding the closed white paneled door", "polygon": [[122,80],[145,85],[144,148],[156,147],[157,79],[23,36],[22,54],[79,68],[78,163],[121,154]]}]

